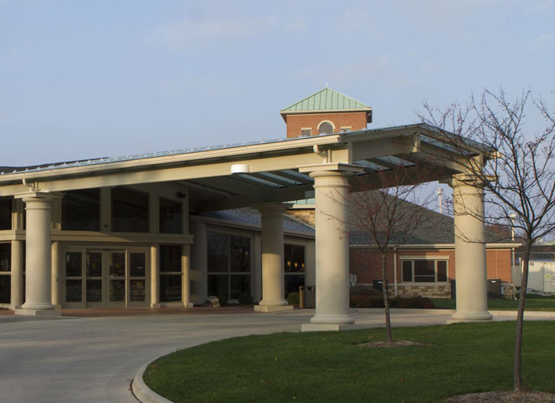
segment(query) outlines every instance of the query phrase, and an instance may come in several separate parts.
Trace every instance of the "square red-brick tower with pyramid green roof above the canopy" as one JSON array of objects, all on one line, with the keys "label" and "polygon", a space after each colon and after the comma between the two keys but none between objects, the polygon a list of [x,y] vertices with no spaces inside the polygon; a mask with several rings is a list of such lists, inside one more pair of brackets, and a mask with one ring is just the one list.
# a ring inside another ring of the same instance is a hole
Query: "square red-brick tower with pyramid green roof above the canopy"
[{"label": "square red-brick tower with pyramid green roof above the canopy", "polygon": [[372,108],[339,92],[324,88],[280,110],[287,137],[366,130]]}]

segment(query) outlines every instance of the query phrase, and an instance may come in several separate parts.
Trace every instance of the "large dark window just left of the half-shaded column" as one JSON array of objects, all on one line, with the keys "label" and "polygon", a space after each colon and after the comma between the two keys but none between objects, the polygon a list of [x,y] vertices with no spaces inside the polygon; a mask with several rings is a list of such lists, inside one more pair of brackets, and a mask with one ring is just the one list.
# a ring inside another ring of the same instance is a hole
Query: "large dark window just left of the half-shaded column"
[{"label": "large dark window just left of the half-shaded column", "polygon": [[208,295],[250,294],[250,238],[209,232],[207,244]]}]

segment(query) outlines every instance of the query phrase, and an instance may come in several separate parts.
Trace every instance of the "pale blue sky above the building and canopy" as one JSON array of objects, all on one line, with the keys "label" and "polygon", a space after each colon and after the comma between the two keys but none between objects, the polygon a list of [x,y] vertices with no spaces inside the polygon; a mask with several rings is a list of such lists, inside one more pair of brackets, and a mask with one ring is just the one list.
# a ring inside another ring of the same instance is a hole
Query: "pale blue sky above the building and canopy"
[{"label": "pale blue sky above the building and canopy", "polygon": [[409,124],[425,99],[555,90],[554,0],[0,0],[0,165],[282,138],[330,88]]}]

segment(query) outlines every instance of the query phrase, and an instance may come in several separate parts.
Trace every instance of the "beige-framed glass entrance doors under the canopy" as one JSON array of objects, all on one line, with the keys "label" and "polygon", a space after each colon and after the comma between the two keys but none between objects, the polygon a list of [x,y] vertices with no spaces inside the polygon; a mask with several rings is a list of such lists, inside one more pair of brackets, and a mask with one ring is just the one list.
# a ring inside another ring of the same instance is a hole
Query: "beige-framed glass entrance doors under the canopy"
[{"label": "beige-framed glass entrance doors under the canopy", "polygon": [[144,249],[68,249],[65,260],[64,306],[148,306]]}]

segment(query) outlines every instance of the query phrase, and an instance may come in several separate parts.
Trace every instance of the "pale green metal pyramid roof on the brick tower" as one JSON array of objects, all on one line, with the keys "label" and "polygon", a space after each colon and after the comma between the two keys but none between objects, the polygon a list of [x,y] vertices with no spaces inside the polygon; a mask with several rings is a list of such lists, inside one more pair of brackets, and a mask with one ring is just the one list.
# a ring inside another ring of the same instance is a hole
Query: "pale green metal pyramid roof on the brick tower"
[{"label": "pale green metal pyramid roof on the brick tower", "polygon": [[301,112],[311,110],[345,110],[345,109],[370,109],[370,106],[355,101],[346,95],[340,94],[330,88],[312,94],[295,104],[280,110],[280,113]]}]

